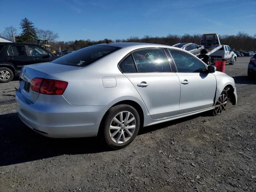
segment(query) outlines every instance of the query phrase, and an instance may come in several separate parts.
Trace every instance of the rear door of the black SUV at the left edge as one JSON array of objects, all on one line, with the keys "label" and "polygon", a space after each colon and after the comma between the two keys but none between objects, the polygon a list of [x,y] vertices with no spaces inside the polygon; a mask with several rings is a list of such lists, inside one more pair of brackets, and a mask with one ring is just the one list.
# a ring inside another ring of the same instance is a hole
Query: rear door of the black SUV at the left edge
[{"label": "rear door of the black SUV at the left edge", "polygon": [[6,61],[14,64],[18,71],[21,70],[22,66],[30,64],[24,45],[10,45],[7,54]]}]

